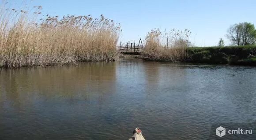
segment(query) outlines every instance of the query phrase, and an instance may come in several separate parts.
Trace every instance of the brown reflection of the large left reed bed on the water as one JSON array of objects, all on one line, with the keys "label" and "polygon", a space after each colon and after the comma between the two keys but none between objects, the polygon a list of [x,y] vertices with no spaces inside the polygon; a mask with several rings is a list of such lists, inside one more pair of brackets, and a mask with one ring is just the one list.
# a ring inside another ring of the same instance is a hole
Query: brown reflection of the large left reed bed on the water
[{"label": "brown reflection of the large left reed bed on the water", "polygon": [[101,96],[111,94],[109,91],[115,87],[115,70],[115,63],[105,62],[1,70],[0,92],[15,107],[35,100],[75,101],[89,96],[98,96],[102,100],[104,97]]}]

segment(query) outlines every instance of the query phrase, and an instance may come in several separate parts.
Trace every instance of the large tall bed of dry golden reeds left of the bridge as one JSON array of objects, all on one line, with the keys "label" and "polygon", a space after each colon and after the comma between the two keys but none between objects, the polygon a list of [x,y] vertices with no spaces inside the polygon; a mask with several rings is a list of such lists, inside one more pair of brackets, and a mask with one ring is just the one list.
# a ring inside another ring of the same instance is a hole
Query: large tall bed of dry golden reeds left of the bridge
[{"label": "large tall bed of dry golden reeds left of the bridge", "polygon": [[[90,15],[45,15],[0,7],[0,67],[115,60],[120,24]],[[30,10],[31,11],[31,10]],[[38,17],[44,17],[38,19]]]}]

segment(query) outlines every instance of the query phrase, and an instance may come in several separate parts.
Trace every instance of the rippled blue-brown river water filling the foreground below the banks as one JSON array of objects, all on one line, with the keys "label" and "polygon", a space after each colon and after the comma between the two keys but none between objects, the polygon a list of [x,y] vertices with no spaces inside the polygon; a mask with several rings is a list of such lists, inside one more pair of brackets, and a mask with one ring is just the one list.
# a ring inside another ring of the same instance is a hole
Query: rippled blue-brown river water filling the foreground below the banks
[{"label": "rippled blue-brown river water filling the foreground below the banks", "polygon": [[125,140],[136,127],[147,140],[199,140],[255,122],[256,67],[123,59],[0,70],[0,140]]}]

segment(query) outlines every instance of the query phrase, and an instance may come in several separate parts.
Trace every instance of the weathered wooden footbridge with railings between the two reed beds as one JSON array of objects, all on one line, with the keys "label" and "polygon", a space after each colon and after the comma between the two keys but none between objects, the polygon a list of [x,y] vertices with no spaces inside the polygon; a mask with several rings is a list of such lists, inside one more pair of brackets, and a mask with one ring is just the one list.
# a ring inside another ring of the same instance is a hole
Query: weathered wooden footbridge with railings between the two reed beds
[{"label": "weathered wooden footbridge with railings between the two reed beds", "polygon": [[143,51],[142,40],[139,40],[138,45],[136,45],[135,43],[127,43],[126,45],[121,45],[120,42],[120,46],[117,47],[117,51],[125,55],[140,55]]}]

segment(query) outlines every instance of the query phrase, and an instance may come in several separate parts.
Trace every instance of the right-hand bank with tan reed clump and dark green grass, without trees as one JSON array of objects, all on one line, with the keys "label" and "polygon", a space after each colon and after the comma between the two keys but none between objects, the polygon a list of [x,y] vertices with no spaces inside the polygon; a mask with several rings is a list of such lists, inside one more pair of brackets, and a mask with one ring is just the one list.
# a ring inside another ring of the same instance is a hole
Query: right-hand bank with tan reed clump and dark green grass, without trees
[{"label": "right-hand bank with tan reed clump and dark green grass, without trees", "polygon": [[146,60],[256,66],[256,45],[190,47],[190,31],[172,29],[170,33],[151,30],[141,58]]}]

